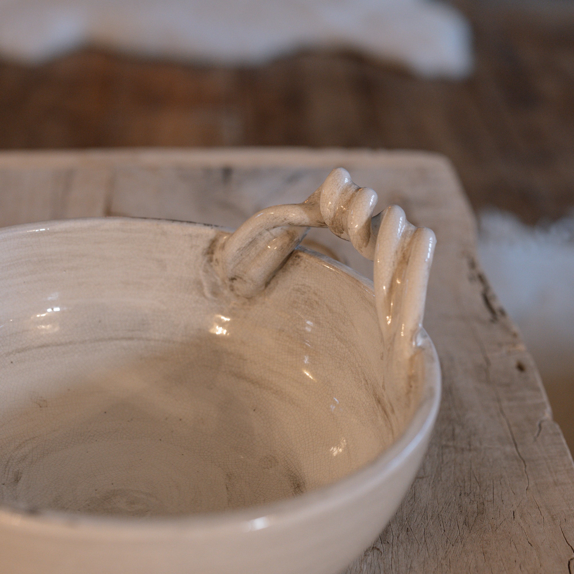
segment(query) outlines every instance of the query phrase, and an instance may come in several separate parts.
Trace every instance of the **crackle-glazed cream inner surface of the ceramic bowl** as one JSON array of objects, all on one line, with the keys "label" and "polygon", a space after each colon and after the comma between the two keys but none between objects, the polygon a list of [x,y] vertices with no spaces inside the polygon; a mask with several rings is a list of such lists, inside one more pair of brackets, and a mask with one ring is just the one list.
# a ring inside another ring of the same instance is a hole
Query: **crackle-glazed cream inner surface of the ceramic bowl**
[{"label": "crackle-glazed cream inner surface of the ceramic bowl", "polygon": [[0,502],[104,515],[257,505],[363,467],[423,382],[387,381],[367,282],[296,251],[217,294],[216,228],[96,219],[0,232]]}]

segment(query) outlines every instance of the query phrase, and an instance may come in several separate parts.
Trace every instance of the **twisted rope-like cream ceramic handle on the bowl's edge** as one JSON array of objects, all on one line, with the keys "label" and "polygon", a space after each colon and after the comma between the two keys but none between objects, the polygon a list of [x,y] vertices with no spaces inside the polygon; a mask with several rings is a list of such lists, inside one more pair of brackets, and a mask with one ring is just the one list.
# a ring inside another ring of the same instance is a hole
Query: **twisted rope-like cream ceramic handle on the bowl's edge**
[{"label": "twisted rope-like cream ceramic handle on the bowl's edge", "polygon": [[374,261],[375,303],[386,342],[414,344],[422,325],[435,234],[416,228],[397,205],[373,217],[377,193],[360,188],[336,168],[303,203],[268,207],[248,219],[214,250],[214,264],[229,288],[252,297],[273,277],[309,227],[328,227]]}]

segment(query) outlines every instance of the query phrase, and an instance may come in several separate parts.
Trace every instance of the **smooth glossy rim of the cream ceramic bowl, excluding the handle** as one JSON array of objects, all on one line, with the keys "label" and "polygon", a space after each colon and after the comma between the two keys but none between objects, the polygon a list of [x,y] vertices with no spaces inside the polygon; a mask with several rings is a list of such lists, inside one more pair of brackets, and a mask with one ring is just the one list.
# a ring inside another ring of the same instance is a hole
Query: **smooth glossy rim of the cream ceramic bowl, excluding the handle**
[{"label": "smooth glossy rim of the cream ceramic bowl, excluding the handle", "polygon": [[[26,223],[0,229],[0,241],[6,236],[27,235],[30,231],[62,231],[77,227],[108,227],[118,223],[130,223],[135,226],[168,225],[195,229],[198,232],[230,231],[226,227],[212,224],[185,222],[172,219],[131,218],[113,216],[105,218],[77,218],[50,220],[37,223]],[[363,277],[354,269],[317,253],[307,247],[299,246],[297,251],[317,262],[323,262],[339,273],[350,276],[358,286],[366,288],[373,294],[373,281]],[[236,530],[249,533],[278,523],[300,521],[303,517],[312,517],[359,498],[364,492],[373,490],[387,476],[397,470],[408,459],[409,455],[424,440],[428,439],[435,425],[441,399],[441,369],[436,348],[424,329],[421,331],[421,347],[424,353],[425,384],[422,389],[421,402],[404,432],[370,463],[336,482],[316,488],[296,497],[282,499],[261,505],[247,506],[235,510],[219,510],[209,513],[190,514],[185,516],[154,516],[134,518],[125,516],[99,516],[71,513],[63,510],[29,510],[0,503],[0,527],[17,526],[18,530],[30,533],[45,532],[49,526],[52,534],[76,533],[85,536],[104,534],[121,536],[129,532],[162,534],[173,536],[175,533],[191,534],[201,530],[204,535],[222,530]]]}]

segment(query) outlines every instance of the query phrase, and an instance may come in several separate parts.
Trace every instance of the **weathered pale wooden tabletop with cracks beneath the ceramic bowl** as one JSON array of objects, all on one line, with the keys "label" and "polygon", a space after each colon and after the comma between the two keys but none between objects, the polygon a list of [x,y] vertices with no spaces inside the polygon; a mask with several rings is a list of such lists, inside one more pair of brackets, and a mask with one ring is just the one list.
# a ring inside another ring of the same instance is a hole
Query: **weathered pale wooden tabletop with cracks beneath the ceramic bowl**
[{"label": "weathered pale wooden tabletop with cracks beneath the ceramic bowl", "polygon": [[3,153],[0,225],[197,219],[214,201],[239,222],[249,213],[226,196],[249,204],[256,189],[267,204],[304,199],[336,165],[373,187],[381,204],[401,204],[413,223],[435,230],[425,326],[444,381],[412,488],[348,572],[574,572],[572,458],[532,359],[476,261],[474,218],[444,158],[306,149]]}]

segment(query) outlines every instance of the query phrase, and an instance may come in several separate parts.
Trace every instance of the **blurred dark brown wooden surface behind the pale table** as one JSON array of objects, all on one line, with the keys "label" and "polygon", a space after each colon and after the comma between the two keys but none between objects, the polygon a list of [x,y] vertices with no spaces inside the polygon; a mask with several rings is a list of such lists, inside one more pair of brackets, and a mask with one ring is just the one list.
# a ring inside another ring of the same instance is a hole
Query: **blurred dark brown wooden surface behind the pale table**
[{"label": "blurred dark brown wooden surface behind the pale table", "polygon": [[302,145],[442,152],[475,209],[574,205],[574,6],[458,3],[476,70],[424,80],[354,53],[206,68],[89,48],[0,62],[0,148]]}]

